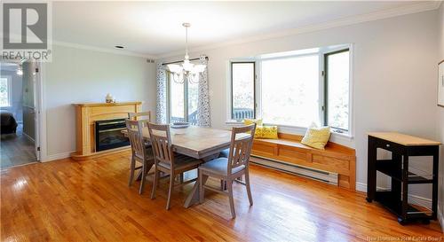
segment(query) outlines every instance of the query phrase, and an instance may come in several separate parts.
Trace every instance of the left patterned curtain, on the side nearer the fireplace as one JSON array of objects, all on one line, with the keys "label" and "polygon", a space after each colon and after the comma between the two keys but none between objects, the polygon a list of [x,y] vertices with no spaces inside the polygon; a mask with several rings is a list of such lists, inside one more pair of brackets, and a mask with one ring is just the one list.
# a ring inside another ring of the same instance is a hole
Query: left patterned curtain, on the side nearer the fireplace
[{"label": "left patterned curtain, on the side nearer the fireplace", "polygon": [[157,123],[167,123],[167,76],[162,63],[157,64]]}]

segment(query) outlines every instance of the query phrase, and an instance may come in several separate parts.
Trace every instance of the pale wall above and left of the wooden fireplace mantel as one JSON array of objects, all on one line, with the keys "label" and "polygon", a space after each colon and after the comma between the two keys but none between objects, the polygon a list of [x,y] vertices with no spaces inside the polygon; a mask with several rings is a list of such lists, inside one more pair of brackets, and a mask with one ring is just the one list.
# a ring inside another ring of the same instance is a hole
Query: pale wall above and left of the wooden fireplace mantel
[{"label": "pale wall above and left of the wooden fireplace mantel", "polygon": [[155,112],[155,64],[144,58],[56,45],[43,82],[50,157],[75,151],[74,103],[105,102],[111,93]]}]

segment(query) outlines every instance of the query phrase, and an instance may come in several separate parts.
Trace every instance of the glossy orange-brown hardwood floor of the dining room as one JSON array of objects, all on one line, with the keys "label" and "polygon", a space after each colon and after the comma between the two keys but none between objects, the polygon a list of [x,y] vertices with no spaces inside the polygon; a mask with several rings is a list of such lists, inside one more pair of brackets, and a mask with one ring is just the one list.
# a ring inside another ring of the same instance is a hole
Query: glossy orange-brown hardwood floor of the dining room
[{"label": "glossy orange-brown hardwood floor of the dining room", "polygon": [[127,185],[129,162],[130,153],[125,152],[96,160],[67,159],[2,170],[1,240],[444,238],[437,222],[401,226],[377,203],[367,203],[363,193],[257,166],[251,166],[252,207],[245,187],[234,184],[235,220],[230,220],[226,197],[210,191],[206,191],[202,205],[184,208],[193,184],[173,192],[171,209],[167,211],[167,181],[161,184],[156,199],[149,199],[151,182],[139,196],[139,183],[131,188]]}]

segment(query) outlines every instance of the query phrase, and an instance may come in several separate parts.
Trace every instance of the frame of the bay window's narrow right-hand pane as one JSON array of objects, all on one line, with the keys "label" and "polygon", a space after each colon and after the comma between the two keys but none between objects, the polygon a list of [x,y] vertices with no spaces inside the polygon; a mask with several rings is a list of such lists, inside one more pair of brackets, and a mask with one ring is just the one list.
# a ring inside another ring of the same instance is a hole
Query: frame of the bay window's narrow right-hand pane
[{"label": "frame of the bay window's narrow right-hand pane", "polygon": [[349,80],[349,87],[348,87],[348,109],[349,109],[349,114],[348,114],[348,129],[341,129],[341,128],[337,128],[337,127],[333,127],[330,126],[331,129],[333,129],[335,132],[337,133],[350,133],[350,126],[351,126],[351,121],[350,121],[350,115],[351,115],[351,92],[352,90],[350,89],[350,82],[351,82],[351,50],[350,48],[344,48],[341,50],[336,50],[336,51],[327,51],[327,52],[323,52],[322,53],[322,59],[323,59],[323,69],[322,69],[322,75],[323,75],[323,106],[322,106],[322,113],[323,113],[323,117],[322,117],[322,122],[324,126],[328,126],[329,125],[329,56],[331,55],[335,55],[335,54],[339,54],[339,53],[343,53],[343,52],[349,52],[349,71],[348,71],[348,80]]}]

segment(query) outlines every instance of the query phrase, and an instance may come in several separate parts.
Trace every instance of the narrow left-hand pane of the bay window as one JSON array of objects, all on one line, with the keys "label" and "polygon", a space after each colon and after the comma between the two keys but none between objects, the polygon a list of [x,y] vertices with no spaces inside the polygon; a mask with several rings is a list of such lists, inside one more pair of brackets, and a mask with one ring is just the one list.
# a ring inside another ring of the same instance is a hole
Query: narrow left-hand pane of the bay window
[{"label": "narrow left-hand pane of the bay window", "polygon": [[255,63],[232,62],[232,119],[254,119]]}]

